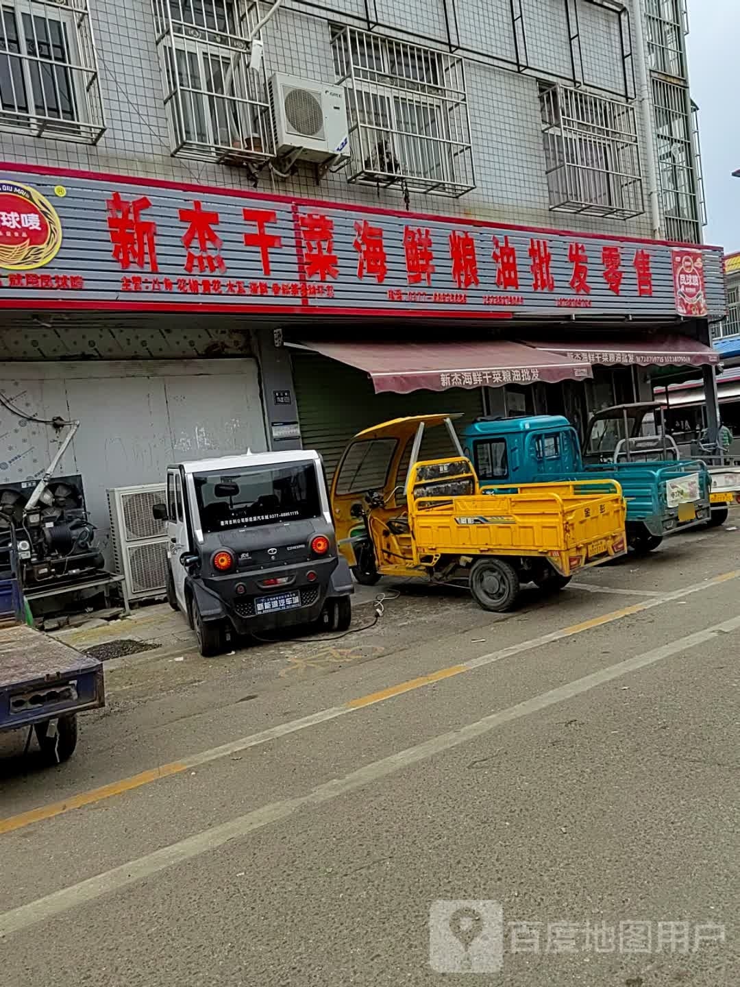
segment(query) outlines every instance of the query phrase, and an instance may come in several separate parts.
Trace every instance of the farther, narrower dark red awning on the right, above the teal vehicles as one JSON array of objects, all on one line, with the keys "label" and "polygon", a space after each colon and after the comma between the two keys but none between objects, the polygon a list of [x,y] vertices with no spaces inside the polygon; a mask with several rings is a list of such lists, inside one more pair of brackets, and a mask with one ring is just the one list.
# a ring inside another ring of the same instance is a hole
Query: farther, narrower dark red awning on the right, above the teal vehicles
[{"label": "farther, narrower dark red awning on the right, above the teal vehicles", "polygon": [[607,366],[623,363],[627,366],[702,366],[718,363],[721,356],[703,342],[687,336],[643,336],[604,339],[598,336],[572,337],[568,340],[528,341],[538,349],[556,353],[569,360],[586,363],[604,363]]}]

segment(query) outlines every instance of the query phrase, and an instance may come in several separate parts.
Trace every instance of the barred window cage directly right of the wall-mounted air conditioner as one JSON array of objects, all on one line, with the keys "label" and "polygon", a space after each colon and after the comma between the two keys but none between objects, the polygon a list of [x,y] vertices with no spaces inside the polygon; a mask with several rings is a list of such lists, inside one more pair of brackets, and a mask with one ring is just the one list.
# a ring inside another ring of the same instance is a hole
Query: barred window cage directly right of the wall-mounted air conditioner
[{"label": "barred window cage directly right of the wall-mounted air conditioner", "polygon": [[333,29],[347,91],[347,180],[458,198],[476,188],[465,64],[458,55]]}]

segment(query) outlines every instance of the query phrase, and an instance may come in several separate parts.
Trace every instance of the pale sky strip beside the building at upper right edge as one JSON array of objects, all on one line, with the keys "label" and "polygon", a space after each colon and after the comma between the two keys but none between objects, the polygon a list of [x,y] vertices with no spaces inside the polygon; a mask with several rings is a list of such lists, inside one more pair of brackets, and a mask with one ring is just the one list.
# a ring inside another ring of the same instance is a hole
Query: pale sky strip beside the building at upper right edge
[{"label": "pale sky strip beside the building at upper right edge", "polygon": [[740,251],[740,0],[689,0],[689,78],[700,107],[708,244]]}]

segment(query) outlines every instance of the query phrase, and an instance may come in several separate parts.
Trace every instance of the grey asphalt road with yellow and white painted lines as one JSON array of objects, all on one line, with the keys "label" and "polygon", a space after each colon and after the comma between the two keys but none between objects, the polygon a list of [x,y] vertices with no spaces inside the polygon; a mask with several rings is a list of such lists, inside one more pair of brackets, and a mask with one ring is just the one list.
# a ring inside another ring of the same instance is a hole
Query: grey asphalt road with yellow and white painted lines
[{"label": "grey asphalt road with yellow and white painted lines", "polygon": [[738,550],[121,659],[72,761],[0,750],[1,982],[736,987]]}]

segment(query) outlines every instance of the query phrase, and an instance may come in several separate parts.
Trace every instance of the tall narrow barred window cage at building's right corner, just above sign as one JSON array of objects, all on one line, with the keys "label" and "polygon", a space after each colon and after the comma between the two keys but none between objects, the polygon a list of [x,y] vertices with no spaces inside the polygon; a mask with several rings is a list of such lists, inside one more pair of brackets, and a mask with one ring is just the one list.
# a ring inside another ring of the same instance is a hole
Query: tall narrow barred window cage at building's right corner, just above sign
[{"label": "tall narrow barred window cage at building's right corner, just above sign", "polygon": [[702,211],[686,87],[652,80],[660,194],[670,240],[701,243]]}]

